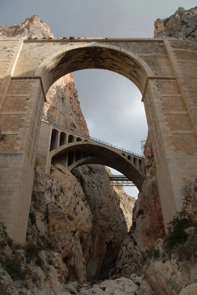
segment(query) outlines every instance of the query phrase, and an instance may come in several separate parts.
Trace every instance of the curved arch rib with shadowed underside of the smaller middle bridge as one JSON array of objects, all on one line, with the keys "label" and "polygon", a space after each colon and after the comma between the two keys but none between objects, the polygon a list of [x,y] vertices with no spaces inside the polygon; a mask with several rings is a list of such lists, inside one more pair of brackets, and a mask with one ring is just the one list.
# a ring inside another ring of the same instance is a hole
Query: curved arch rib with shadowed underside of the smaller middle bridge
[{"label": "curved arch rib with shadowed underside of the smaller middle bridge", "polygon": [[128,177],[137,186],[139,191],[141,191],[144,176],[138,170],[138,168],[133,165],[131,161],[125,158],[121,152],[115,152],[113,148],[105,148],[99,146],[97,143],[75,142],[66,145],[66,147],[59,147],[56,150],[51,151],[49,168],[51,163],[62,163],[68,152],[73,153],[76,151],[87,152],[88,154],[91,153],[93,156],[86,156],[72,163],[70,166],[68,166],[70,171],[85,164],[100,164],[109,166]]}]

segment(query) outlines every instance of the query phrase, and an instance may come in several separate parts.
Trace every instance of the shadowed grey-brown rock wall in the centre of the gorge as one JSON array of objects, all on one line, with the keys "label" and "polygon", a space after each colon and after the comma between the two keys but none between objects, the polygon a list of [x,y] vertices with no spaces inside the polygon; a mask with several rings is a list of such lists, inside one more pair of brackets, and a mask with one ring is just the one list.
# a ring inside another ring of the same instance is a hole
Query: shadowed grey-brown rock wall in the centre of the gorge
[{"label": "shadowed grey-brown rock wall in the centre of the gorge", "polygon": [[125,217],[103,166],[81,166],[73,174],[82,184],[93,216],[87,278],[107,278],[110,269],[115,266],[120,245],[127,233]]}]

